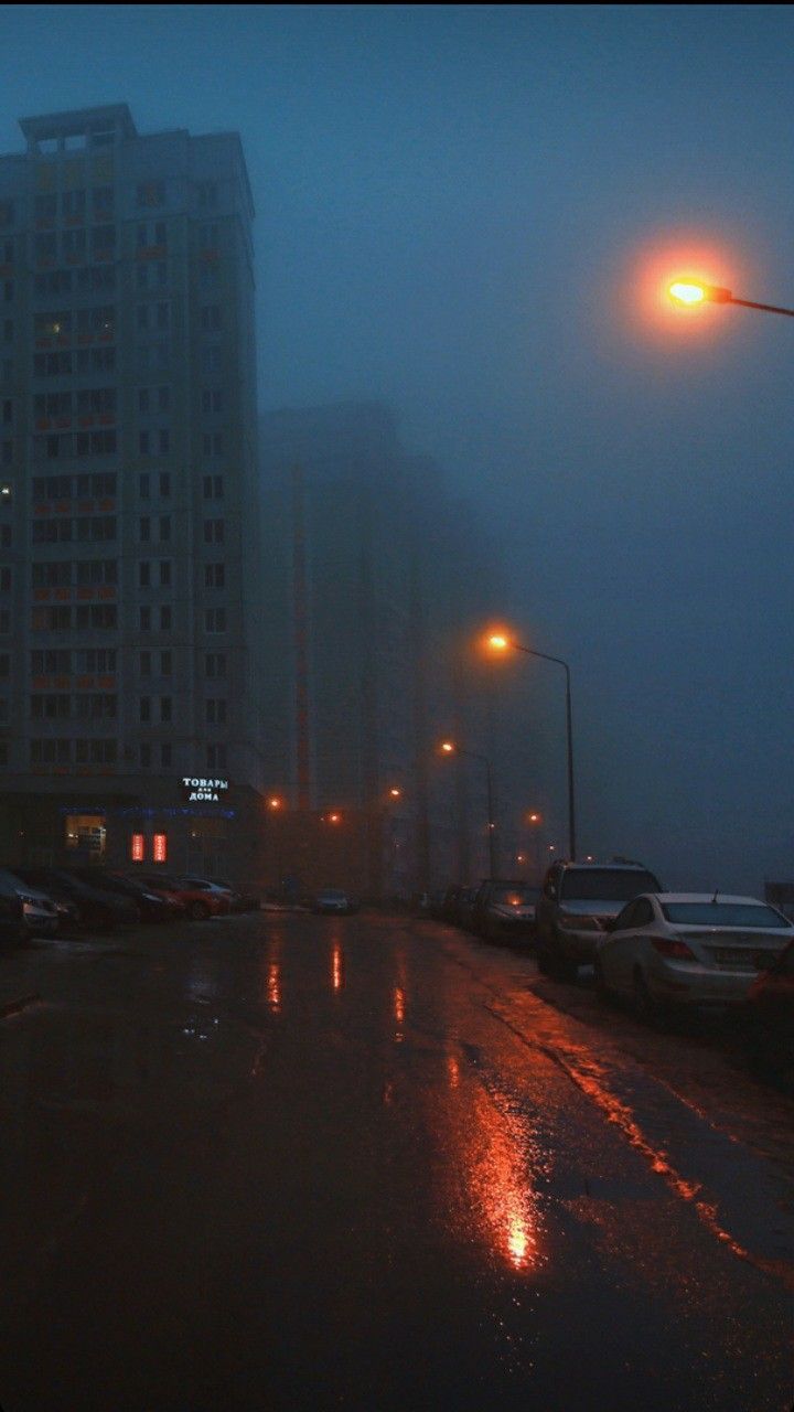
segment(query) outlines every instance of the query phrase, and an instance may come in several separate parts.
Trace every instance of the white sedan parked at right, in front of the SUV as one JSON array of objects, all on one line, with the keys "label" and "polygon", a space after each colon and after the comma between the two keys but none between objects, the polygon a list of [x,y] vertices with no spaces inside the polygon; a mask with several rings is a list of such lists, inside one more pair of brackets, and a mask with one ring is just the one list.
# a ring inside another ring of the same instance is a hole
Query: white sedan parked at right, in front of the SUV
[{"label": "white sedan parked at right, in front of the SUV", "polygon": [[643,1018],[670,1005],[733,1004],[793,936],[794,923],[754,897],[643,892],[599,938],[596,988],[630,997]]}]

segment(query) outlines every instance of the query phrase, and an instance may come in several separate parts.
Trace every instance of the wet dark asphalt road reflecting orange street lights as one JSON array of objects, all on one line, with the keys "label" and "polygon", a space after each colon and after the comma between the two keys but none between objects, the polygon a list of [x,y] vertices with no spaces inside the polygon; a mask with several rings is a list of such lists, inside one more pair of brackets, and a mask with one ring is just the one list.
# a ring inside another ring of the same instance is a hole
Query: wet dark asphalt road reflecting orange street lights
[{"label": "wet dark asphalt road reflecting orange street lights", "polygon": [[708,1051],[407,919],[31,966],[0,1021],[3,1412],[791,1405],[794,1103]]}]

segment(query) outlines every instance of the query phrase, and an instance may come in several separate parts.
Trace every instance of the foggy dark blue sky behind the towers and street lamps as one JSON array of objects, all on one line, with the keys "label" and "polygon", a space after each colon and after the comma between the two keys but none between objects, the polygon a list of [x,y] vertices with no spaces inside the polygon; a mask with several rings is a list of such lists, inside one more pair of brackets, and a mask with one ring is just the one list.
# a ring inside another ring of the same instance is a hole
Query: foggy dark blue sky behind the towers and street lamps
[{"label": "foggy dark blue sky behind the towers and street lamps", "polygon": [[639,298],[708,246],[715,282],[794,304],[791,7],[0,23],[6,152],[18,117],[116,102],[242,134],[260,407],[384,400],[497,531],[506,620],[572,666],[582,851],[794,877],[794,321],[711,308],[698,337]]}]

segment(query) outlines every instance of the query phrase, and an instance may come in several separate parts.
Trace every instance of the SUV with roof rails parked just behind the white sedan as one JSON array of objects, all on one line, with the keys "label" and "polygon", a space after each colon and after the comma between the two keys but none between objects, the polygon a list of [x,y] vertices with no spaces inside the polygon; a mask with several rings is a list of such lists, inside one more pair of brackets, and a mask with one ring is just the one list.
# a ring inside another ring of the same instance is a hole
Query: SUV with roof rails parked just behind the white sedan
[{"label": "SUV with roof rails parked just behind the white sedan", "polygon": [[626,902],[661,892],[641,863],[552,863],[535,908],[538,967],[557,980],[575,980],[595,962],[598,940]]}]

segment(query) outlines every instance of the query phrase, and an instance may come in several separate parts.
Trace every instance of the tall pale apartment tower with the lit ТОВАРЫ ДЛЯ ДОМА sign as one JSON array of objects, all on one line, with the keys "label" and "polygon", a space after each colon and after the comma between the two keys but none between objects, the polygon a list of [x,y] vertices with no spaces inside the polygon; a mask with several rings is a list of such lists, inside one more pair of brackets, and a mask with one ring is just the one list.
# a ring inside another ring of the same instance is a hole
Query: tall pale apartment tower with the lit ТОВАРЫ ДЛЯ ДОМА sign
[{"label": "tall pale apartment tower with the lit \u0422\u041e\u0412\u0410\u0420\u042b \u0414\u041b\u042f \u0414\u041e\u041c\u0410 sign", "polygon": [[0,857],[256,877],[260,491],[240,140],[126,104],[0,157]]}]

